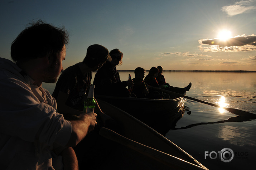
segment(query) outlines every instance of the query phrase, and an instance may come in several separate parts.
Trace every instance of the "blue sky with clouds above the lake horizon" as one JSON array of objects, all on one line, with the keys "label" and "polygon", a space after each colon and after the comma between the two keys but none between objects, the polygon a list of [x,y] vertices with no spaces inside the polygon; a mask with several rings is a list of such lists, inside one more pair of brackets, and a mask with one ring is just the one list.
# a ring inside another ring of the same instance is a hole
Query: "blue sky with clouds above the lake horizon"
[{"label": "blue sky with clouds above the lake horizon", "polygon": [[0,57],[33,19],[69,31],[64,69],[101,44],[124,53],[119,70],[256,71],[256,0],[1,0]]}]

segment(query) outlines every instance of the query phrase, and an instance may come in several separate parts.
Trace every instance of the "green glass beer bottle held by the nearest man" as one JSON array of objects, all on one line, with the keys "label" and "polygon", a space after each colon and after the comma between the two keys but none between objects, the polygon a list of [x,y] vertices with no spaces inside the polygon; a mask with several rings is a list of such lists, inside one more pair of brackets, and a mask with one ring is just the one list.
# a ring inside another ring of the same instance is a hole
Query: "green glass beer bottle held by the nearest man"
[{"label": "green glass beer bottle held by the nearest man", "polygon": [[96,101],[94,99],[94,85],[91,84],[87,99],[84,101],[83,113],[94,112]]}]

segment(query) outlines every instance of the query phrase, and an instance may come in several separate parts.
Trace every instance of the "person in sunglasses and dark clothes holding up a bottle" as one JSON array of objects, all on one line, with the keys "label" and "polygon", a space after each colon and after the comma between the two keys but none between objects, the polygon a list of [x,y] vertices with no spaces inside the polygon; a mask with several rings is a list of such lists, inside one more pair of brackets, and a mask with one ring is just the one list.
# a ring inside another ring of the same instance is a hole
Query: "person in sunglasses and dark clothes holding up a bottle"
[{"label": "person in sunglasses and dark clothes holding up a bottle", "polygon": [[123,53],[119,49],[110,51],[111,62],[106,62],[95,74],[93,84],[95,94],[106,96],[130,97],[130,92],[126,88],[132,86],[132,80],[121,81],[117,65],[122,64]]}]

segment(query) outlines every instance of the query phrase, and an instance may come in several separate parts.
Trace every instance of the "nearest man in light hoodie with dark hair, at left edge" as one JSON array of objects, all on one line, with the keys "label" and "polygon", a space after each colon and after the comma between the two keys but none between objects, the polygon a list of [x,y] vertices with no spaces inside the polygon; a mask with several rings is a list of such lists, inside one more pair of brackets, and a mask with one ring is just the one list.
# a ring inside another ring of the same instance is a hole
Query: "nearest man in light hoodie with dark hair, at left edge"
[{"label": "nearest man in light hoodie with dark hair, at left edge", "polygon": [[[76,146],[96,122],[96,113],[68,121],[42,87],[62,71],[68,34],[37,21],[11,44],[11,58],[0,58],[1,169],[78,169]],[[82,131],[81,131],[82,130]]]}]

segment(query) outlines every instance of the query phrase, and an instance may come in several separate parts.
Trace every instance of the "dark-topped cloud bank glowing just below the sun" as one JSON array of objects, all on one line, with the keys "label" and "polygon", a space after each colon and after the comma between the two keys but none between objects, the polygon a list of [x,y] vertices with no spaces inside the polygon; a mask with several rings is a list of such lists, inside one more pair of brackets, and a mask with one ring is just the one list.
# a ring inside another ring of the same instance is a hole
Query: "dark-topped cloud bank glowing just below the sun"
[{"label": "dark-topped cloud bank glowing just below the sun", "polygon": [[[226,41],[220,39],[200,39],[198,40],[198,47],[204,50],[204,52],[246,52],[256,50],[256,36],[254,34],[245,36],[237,35]],[[210,47],[203,47],[202,45],[211,45]]]}]

